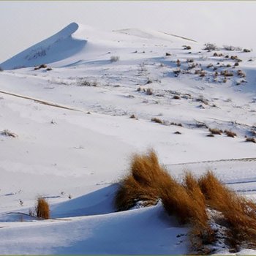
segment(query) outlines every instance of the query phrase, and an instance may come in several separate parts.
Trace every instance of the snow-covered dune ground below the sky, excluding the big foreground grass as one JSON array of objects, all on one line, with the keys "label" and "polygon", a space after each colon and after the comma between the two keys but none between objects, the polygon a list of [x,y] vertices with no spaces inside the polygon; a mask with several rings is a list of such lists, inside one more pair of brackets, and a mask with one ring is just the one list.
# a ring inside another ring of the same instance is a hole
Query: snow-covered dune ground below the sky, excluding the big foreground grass
[{"label": "snow-covered dune ground below the sky, excluding the big foreground grass", "polygon": [[[215,47],[71,23],[1,63],[0,255],[189,253],[189,227],[161,202],[114,207],[132,154],[148,148],[178,181],[213,170],[254,199],[256,54]],[[29,216],[38,196],[50,219]]]}]

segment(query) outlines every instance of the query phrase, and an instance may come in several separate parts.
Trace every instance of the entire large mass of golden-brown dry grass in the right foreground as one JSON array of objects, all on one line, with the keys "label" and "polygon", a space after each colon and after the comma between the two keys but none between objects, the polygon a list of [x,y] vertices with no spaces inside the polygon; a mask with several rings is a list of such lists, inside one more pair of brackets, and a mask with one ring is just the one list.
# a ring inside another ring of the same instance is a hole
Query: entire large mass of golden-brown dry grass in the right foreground
[{"label": "entire large mass of golden-brown dry grass in the right foreground", "polygon": [[137,203],[151,206],[159,199],[167,214],[176,216],[181,224],[190,225],[193,252],[210,253],[208,245],[216,239],[208,222],[207,208],[219,212],[215,221],[221,221],[226,227],[231,249],[238,251],[241,244],[256,246],[255,203],[225,187],[211,171],[199,179],[186,173],[184,182],[179,184],[159,165],[154,151],[135,154],[129,174],[121,181],[116,194],[116,208],[123,211]]}]

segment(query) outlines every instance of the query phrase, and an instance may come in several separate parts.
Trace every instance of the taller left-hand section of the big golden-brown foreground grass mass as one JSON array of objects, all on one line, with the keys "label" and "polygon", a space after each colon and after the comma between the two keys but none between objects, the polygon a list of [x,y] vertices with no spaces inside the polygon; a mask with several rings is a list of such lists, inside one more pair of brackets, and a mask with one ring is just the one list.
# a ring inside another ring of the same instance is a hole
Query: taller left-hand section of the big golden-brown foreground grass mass
[{"label": "taller left-hand section of the big golden-brown foreground grass mass", "polygon": [[154,151],[135,154],[129,174],[121,181],[116,194],[117,210],[127,210],[137,203],[154,205],[159,199],[167,214],[175,215],[181,224],[192,225],[192,247],[197,252],[199,249],[203,252],[204,244],[214,240],[214,232],[208,226],[205,199],[196,179],[187,173],[184,184],[178,184],[159,165]]}]

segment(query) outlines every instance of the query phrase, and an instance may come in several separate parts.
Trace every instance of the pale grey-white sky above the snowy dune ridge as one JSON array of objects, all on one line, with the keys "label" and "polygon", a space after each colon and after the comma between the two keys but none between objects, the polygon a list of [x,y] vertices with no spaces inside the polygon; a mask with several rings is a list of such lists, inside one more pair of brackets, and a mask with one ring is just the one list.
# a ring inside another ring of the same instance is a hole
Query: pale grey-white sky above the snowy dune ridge
[{"label": "pale grey-white sky above the snowy dune ridge", "polygon": [[0,62],[71,22],[154,29],[256,50],[256,1],[0,1]]}]

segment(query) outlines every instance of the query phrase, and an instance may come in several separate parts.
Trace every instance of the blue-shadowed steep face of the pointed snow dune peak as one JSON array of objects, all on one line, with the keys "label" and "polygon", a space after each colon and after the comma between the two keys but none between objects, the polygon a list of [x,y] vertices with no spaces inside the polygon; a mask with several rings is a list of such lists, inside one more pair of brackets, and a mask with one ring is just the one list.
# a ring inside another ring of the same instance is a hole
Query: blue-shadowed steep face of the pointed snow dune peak
[{"label": "blue-shadowed steep face of the pointed snow dune peak", "polygon": [[52,37],[23,50],[21,53],[0,64],[2,69],[17,69],[34,67],[39,64],[48,64],[61,61],[80,52],[86,45],[85,39],[72,37],[78,31],[78,23],[70,23]]}]

